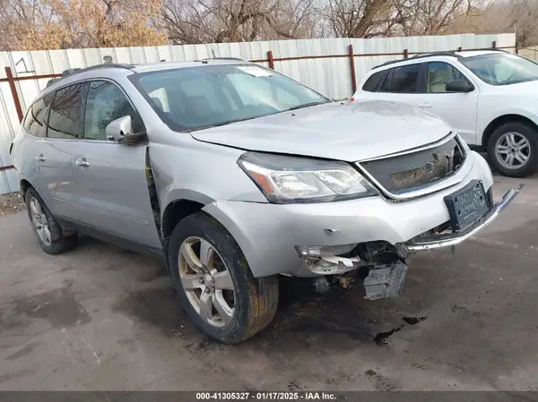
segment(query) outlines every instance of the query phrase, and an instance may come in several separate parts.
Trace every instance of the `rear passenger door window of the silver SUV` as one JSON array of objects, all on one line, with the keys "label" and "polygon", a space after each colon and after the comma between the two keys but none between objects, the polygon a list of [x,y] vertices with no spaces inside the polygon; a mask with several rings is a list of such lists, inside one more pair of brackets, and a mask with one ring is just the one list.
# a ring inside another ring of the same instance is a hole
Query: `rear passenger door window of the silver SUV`
[{"label": "rear passenger door window of the silver SUV", "polygon": [[79,137],[82,85],[56,91],[48,116],[47,137],[73,140]]}]

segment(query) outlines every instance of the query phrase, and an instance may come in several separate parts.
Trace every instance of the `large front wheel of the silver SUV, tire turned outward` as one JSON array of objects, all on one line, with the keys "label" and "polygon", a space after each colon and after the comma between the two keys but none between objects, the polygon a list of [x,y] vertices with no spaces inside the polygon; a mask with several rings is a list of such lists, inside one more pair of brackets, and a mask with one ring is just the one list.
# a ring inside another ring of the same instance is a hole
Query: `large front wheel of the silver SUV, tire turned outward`
[{"label": "large front wheel of the silver SUV, tire turned outward", "polygon": [[239,343],[273,321],[278,278],[254,278],[230,233],[204,212],[174,228],[169,266],[180,304],[208,337]]}]

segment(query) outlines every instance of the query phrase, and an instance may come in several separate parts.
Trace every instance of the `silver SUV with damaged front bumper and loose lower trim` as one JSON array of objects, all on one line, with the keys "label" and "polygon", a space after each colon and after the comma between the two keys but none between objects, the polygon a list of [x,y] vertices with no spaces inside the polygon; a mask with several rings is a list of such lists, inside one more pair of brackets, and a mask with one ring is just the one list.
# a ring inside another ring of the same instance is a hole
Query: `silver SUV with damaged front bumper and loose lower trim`
[{"label": "silver SUV with damaged front bumper and loose lower trim", "polygon": [[50,81],[11,147],[45,252],[77,235],[166,261],[209,337],[272,320],[278,275],[323,290],[364,275],[399,295],[413,252],[496,218],[484,158],[438,117],[334,102],[240,60],[105,64]]}]

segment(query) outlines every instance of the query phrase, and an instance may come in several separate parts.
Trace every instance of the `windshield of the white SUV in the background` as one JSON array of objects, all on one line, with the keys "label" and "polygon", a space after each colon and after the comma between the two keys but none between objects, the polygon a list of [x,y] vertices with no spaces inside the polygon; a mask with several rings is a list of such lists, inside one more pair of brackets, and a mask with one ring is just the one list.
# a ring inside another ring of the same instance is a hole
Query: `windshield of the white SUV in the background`
[{"label": "windshield of the white SUV in the background", "polygon": [[463,57],[458,61],[490,85],[538,80],[538,64],[510,53]]}]

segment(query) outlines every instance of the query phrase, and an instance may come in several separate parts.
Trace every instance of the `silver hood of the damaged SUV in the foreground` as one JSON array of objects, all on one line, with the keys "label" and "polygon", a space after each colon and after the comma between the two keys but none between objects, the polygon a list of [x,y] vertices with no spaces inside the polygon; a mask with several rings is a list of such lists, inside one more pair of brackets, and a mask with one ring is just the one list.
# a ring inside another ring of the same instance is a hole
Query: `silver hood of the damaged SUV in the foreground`
[{"label": "silver hood of the damaged SUV in the foreground", "polygon": [[334,102],[192,132],[198,141],[354,162],[410,150],[450,133],[440,118],[386,101]]}]

